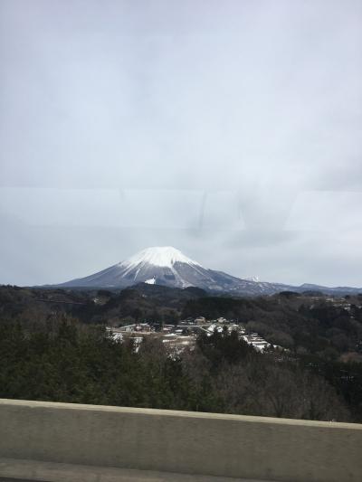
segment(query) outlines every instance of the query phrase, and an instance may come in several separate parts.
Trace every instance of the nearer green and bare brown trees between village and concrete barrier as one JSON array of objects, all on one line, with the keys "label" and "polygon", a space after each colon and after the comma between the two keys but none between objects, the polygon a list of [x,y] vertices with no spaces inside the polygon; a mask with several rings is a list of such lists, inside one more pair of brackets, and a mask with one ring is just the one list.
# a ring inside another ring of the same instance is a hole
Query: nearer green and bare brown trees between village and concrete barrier
[{"label": "nearer green and bare brown trees between village and concrete barrier", "polygon": [[332,374],[289,352],[259,354],[226,330],[199,336],[194,350],[176,355],[157,339],[136,351],[104,326],[64,314],[34,325],[0,323],[2,398],[360,420]]}]

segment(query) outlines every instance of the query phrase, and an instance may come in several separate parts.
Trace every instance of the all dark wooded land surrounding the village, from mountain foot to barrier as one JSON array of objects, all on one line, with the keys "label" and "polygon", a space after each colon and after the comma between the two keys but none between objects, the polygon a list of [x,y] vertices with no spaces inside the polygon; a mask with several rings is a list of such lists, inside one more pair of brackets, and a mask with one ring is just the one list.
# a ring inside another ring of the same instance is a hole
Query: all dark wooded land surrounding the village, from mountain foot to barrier
[{"label": "all dark wooded land surrounding the village, from mountain foot to barrier", "polygon": [[[284,350],[258,354],[225,331],[170,358],[159,340],[134,353],[104,329],[195,317],[226,318]],[[362,421],[360,295],[3,286],[0,335],[0,397]]]}]

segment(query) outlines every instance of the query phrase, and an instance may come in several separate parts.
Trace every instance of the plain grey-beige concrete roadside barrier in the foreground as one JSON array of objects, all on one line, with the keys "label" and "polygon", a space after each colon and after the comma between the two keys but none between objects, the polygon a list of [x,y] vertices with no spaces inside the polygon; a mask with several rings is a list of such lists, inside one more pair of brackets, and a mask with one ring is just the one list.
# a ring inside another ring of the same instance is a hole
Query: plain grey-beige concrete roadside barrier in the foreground
[{"label": "plain grey-beige concrete roadside barrier in the foreground", "polygon": [[362,480],[362,425],[0,400],[0,457],[293,482]]}]

